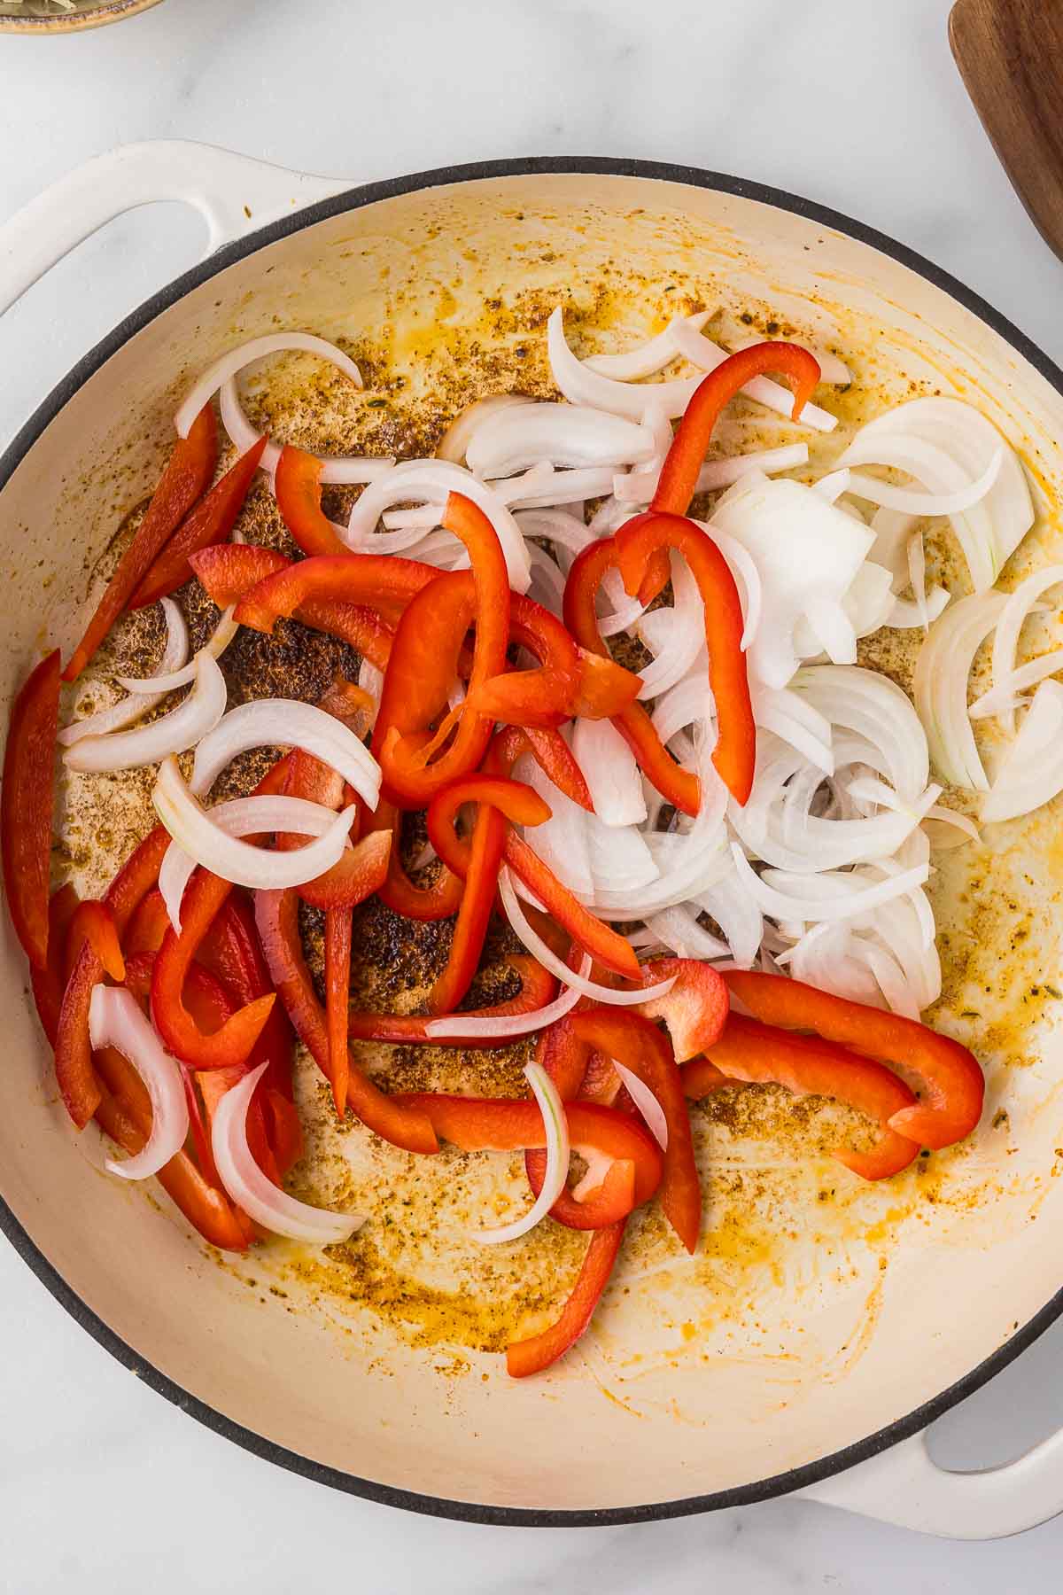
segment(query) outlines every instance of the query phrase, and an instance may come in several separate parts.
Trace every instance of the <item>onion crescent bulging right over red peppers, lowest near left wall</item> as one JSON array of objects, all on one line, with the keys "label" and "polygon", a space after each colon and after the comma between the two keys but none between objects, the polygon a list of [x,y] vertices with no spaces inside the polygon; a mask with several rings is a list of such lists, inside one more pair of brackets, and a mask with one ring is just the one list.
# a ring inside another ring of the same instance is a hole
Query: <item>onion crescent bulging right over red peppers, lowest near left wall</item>
[{"label": "onion crescent bulging right over red peppers, lowest near left wall", "polygon": [[135,1156],[123,1158],[121,1163],[108,1158],[105,1164],[110,1174],[124,1180],[147,1180],[177,1156],[188,1136],[188,1102],[180,1064],[159,1042],[137,998],[123,986],[92,987],[89,1042],[92,1048],[118,1048],[147,1086],[151,1134]]}]

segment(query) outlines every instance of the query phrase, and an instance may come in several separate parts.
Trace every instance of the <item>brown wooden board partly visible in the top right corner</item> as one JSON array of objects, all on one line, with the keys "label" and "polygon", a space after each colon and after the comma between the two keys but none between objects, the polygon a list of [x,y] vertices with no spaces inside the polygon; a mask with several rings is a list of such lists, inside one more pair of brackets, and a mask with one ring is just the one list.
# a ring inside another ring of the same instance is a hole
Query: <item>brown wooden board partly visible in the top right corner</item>
[{"label": "brown wooden board partly visible in the top right corner", "polygon": [[1015,193],[1063,260],[1063,0],[956,0],[948,38]]}]

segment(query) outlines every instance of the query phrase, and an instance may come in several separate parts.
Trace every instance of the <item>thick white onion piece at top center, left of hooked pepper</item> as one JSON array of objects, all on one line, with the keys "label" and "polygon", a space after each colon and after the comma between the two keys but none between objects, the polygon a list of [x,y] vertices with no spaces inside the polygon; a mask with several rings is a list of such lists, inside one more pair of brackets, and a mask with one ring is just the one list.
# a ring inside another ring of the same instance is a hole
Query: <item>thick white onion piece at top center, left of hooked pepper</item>
[{"label": "thick white onion piece at top center, left of hooked pepper", "polygon": [[478,477],[512,477],[542,459],[555,467],[631,466],[652,453],[652,432],[622,415],[534,404],[489,415],[470,439],[465,458]]}]

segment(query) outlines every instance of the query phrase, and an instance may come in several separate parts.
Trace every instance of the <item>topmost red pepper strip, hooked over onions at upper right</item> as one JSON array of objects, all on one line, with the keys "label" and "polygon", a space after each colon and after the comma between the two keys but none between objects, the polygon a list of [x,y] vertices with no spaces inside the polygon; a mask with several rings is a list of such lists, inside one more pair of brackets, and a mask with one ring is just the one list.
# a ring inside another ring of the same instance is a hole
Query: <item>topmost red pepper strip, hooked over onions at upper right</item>
[{"label": "topmost red pepper strip, hooked over onions at upper right", "polygon": [[687,514],[724,405],[765,372],[783,372],[789,380],[797,421],[819,381],[819,360],[797,343],[754,343],[732,354],[695,389],[665,456],[650,510]]}]

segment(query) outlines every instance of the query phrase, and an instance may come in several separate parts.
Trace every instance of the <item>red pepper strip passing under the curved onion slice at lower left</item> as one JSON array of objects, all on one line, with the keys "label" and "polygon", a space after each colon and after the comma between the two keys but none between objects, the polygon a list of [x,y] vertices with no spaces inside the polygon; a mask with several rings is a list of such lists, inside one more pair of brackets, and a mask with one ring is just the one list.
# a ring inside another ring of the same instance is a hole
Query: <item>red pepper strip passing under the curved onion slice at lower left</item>
[{"label": "red pepper strip passing under the curved onion slice at lower left", "polygon": [[[97,1053],[105,1086],[96,1109],[100,1129],[131,1156],[151,1132],[151,1104],[132,1064],[113,1048]],[[253,1239],[250,1220],[229,1198],[214,1188],[185,1152],[159,1169],[159,1185],[188,1222],[212,1246],[228,1252],[247,1250]]]}]

